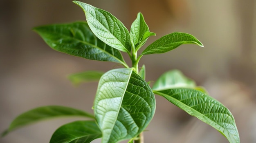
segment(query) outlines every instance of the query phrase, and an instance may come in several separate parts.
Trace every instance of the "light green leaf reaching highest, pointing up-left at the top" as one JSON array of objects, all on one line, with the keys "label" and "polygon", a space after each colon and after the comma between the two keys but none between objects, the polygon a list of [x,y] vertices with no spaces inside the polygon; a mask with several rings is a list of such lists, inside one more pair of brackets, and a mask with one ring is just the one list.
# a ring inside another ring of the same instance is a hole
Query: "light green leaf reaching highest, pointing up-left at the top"
[{"label": "light green leaf reaching highest, pointing up-left at the top", "polygon": [[100,40],[117,50],[130,53],[130,34],[122,22],[108,11],[83,2],[73,2],[83,9],[90,29]]}]

